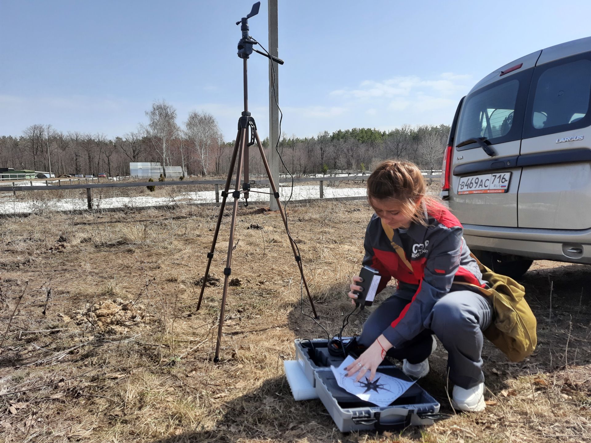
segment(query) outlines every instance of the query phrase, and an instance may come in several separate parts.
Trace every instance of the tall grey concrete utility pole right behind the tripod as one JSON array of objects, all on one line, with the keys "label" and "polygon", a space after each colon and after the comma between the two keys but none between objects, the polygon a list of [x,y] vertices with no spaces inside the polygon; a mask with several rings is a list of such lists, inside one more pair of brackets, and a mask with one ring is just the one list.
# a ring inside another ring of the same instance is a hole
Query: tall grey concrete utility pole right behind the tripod
[{"label": "tall grey concrete utility pole right behind the tripod", "polygon": [[[278,57],[278,31],[277,31],[277,0],[269,0],[269,54]],[[273,84],[273,68],[275,68],[275,84]],[[273,95],[272,87],[275,88],[275,95]],[[278,64],[269,60],[269,168],[271,168],[271,175],[275,181],[277,189],[279,189],[279,154],[275,151],[275,145],[280,138],[279,133],[279,70]],[[273,191],[269,187],[269,192]],[[277,201],[275,197],[269,196],[269,208],[272,211],[277,211]]]}]

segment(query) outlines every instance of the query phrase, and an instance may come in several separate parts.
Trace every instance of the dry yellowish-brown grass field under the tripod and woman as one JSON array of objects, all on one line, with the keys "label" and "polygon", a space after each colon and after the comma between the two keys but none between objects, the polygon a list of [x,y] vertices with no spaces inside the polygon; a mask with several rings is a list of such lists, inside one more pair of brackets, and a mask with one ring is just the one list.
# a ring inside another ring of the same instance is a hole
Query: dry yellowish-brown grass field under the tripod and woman
[{"label": "dry yellowish-brown grass field under the tripod and woman", "polygon": [[[371,210],[319,202],[288,215],[320,322],[335,334]],[[534,263],[524,285],[538,348],[511,363],[485,345],[484,412],[450,408],[439,346],[420,384],[448,418],[341,434],[319,400],[295,402],[285,380],[294,338],[326,335],[301,314],[280,216],[261,205],[239,208],[222,360],[213,363],[230,217],[196,305],[216,216],[214,206],[177,206],[0,219],[0,440],[591,442],[591,268]],[[345,333],[359,333],[369,312]]]}]

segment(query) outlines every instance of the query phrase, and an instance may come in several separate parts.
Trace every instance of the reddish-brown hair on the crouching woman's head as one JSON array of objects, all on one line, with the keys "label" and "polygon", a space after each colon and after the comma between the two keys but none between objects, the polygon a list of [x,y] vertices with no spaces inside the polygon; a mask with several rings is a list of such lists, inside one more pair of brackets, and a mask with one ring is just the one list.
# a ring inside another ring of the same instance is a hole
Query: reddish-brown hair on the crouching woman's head
[{"label": "reddish-brown hair on the crouching woman's head", "polygon": [[[401,212],[414,223],[427,224],[426,212],[439,205],[427,195],[421,170],[410,161],[382,161],[368,178],[368,200],[394,200]],[[418,204],[417,204],[418,202]]]}]

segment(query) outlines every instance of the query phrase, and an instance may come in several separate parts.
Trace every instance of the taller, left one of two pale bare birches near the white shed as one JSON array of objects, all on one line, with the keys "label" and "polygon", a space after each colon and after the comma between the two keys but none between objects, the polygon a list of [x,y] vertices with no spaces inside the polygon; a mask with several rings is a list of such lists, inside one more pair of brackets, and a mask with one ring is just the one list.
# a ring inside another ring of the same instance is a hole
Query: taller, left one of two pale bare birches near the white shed
[{"label": "taller, left one of two pale bare birches near the white shed", "polygon": [[[154,149],[162,159],[163,167],[170,164],[170,141],[178,133],[177,110],[169,105],[165,100],[152,103],[152,109],[146,111],[148,117],[148,126],[144,131],[150,140]],[[166,177],[166,170],[164,177]]]}]

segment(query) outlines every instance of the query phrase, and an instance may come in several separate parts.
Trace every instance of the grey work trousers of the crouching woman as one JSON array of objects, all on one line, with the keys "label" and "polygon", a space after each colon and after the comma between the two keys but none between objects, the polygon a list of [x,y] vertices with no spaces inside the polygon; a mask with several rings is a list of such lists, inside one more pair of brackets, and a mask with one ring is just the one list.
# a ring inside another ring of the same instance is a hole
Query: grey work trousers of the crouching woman
[{"label": "grey work trousers of the crouching woman", "polygon": [[[398,318],[413,298],[413,289],[400,288],[384,300],[363,324],[358,343],[369,347]],[[425,320],[425,329],[416,337],[392,348],[387,355],[417,364],[435,348],[432,334],[446,348],[449,378],[454,385],[469,389],[484,381],[482,373],[482,331],[491,324],[492,304],[472,291],[452,291],[441,297]]]}]

